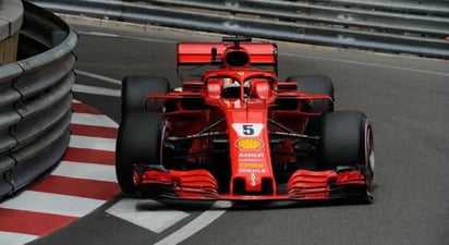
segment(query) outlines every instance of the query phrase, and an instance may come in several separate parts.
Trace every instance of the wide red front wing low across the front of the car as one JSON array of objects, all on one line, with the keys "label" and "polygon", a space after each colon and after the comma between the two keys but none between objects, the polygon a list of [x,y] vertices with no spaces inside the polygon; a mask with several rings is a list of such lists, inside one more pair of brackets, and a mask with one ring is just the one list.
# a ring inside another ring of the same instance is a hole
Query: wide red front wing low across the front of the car
[{"label": "wide red front wing low across the front of the car", "polygon": [[[270,194],[236,195],[232,186],[228,194],[220,194],[217,180],[203,169],[165,170],[146,166],[136,169],[134,183],[139,193],[151,198],[192,200],[317,200],[351,198],[372,200],[369,182],[362,170],[340,168],[328,171],[295,171],[287,183],[287,189],[274,187]],[[276,186],[276,185],[275,185]]]}]

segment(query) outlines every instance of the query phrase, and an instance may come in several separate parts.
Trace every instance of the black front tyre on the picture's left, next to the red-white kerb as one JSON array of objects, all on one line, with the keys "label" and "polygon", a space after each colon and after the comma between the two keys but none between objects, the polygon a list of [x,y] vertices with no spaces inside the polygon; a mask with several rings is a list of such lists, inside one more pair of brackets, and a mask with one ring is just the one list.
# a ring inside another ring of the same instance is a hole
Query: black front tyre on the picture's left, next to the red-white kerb
[{"label": "black front tyre on the picture's left, next to the red-white kerb", "polygon": [[156,112],[132,112],[120,123],[116,146],[116,174],[124,194],[135,194],[135,163],[160,163],[163,117]]}]

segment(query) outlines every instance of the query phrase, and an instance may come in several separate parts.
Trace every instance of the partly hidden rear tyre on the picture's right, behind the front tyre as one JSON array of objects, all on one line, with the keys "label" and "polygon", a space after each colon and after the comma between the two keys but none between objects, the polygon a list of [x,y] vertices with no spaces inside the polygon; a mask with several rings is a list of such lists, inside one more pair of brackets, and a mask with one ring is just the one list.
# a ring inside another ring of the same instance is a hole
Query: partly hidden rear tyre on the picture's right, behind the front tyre
[{"label": "partly hidden rear tyre on the picture's right, behind the front tyre", "polygon": [[[307,94],[324,94],[328,95],[333,100],[333,85],[332,81],[327,76],[321,75],[291,75],[287,77],[288,82],[296,82],[298,90]],[[317,134],[321,118],[324,114],[333,111],[333,102],[325,100],[315,100],[312,102],[312,112],[319,112],[323,107],[323,114],[312,118],[307,123],[306,134]]]}]

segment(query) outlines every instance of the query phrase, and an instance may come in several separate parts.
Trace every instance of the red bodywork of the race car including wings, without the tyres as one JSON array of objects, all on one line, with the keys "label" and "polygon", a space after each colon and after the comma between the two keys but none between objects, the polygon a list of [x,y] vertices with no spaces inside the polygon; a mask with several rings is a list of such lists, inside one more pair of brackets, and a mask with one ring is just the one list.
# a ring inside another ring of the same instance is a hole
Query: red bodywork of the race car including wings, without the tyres
[{"label": "red bodywork of the race car including wings, without the tyres", "polygon": [[[234,63],[232,56],[245,59],[244,54],[246,62]],[[178,46],[178,65],[215,61],[220,63],[217,70],[205,72],[201,81],[183,82],[182,91],[148,95],[148,107],[154,99],[165,101],[165,134],[189,139],[189,149],[187,157],[170,160],[171,163],[162,157],[162,170],[150,166],[136,170],[135,184],[144,193],[182,199],[328,199],[348,196],[351,189],[368,185],[361,170],[317,171],[306,168],[313,160],[302,162],[294,156],[294,138],[290,136],[300,137],[308,119],[320,114],[307,111],[311,102],[331,98],[303,94],[296,83],[279,82],[275,71],[254,69],[257,64],[277,65],[275,45]],[[223,96],[226,79],[240,84],[238,96]],[[245,87],[246,81],[251,81],[251,86]],[[210,127],[214,123],[217,125]],[[207,127],[210,128],[204,132]],[[283,127],[290,133],[282,133]],[[274,132],[280,132],[275,134],[276,139]],[[210,154],[217,145],[222,146],[226,156]],[[275,173],[275,163],[305,167],[281,177]]]}]

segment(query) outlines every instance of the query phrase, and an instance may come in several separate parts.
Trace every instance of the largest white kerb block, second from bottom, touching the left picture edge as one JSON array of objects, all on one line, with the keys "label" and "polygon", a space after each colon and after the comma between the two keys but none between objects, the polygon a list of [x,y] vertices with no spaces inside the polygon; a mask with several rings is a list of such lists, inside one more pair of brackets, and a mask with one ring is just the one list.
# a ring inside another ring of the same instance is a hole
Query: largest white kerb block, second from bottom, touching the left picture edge
[{"label": "largest white kerb block, second from bottom, touching the left picture edge", "polygon": [[0,208],[83,217],[101,206],[104,203],[105,200],[86,197],[25,191],[14,198],[1,203]]}]

